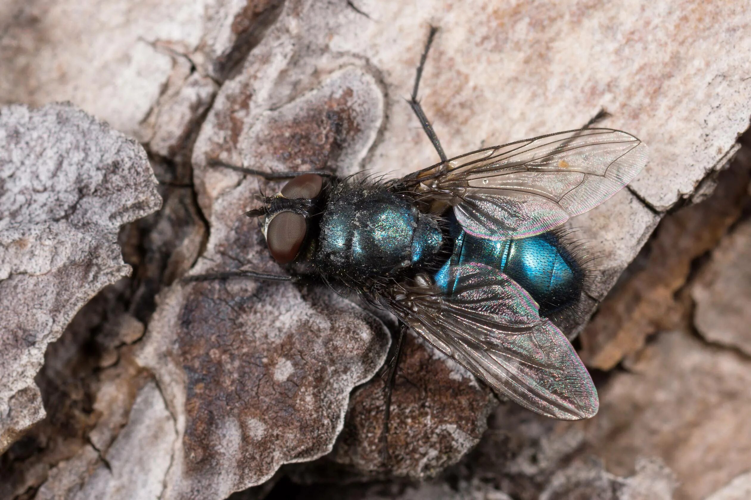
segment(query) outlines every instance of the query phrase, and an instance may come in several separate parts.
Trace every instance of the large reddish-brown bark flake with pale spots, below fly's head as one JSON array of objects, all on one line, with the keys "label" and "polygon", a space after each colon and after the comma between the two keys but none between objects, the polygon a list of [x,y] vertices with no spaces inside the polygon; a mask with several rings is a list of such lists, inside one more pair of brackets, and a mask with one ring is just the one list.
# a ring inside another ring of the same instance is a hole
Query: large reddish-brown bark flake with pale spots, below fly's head
[{"label": "large reddish-brown bark flake with pale spots, below fly's head", "polygon": [[177,423],[164,498],[225,498],[330,451],[388,348],[379,320],[315,286],[202,282],[160,303],[140,363]]}]

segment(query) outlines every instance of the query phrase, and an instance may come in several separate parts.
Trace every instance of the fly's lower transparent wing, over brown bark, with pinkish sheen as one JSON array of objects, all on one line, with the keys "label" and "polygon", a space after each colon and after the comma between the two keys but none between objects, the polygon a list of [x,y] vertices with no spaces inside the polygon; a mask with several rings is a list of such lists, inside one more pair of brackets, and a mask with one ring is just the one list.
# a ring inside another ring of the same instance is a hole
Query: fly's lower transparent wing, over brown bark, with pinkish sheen
[{"label": "fly's lower transparent wing, over brown bark, with pinkish sheen", "polygon": [[499,270],[461,264],[451,297],[412,292],[389,308],[444,354],[518,404],[548,417],[593,417],[597,391],[576,351],[532,297]]}]

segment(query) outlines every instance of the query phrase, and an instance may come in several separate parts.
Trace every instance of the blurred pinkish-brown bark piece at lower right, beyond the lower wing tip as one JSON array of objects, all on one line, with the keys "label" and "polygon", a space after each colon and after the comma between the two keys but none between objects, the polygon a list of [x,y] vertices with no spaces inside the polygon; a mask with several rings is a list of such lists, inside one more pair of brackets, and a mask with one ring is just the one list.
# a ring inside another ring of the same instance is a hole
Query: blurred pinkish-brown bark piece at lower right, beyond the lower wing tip
[{"label": "blurred pinkish-brown bark piece at lower right, beyond the lower wing tip", "polygon": [[659,456],[677,475],[675,498],[701,500],[751,463],[751,363],[686,330],[659,333],[626,360],[600,393],[601,418],[583,427],[609,471]]}]

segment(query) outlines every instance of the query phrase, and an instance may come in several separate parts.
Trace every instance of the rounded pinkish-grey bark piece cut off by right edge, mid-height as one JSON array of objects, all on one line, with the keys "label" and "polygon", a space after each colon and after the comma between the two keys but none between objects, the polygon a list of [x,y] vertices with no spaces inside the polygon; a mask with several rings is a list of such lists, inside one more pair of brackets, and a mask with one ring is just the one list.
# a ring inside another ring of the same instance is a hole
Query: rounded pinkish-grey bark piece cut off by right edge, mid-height
[{"label": "rounded pinkish-grey bark piece cut off by right edge, mid-height", "polygon": [[751,356],[751,221],[741,222],[722,240],[691,295],[699,333]]}]

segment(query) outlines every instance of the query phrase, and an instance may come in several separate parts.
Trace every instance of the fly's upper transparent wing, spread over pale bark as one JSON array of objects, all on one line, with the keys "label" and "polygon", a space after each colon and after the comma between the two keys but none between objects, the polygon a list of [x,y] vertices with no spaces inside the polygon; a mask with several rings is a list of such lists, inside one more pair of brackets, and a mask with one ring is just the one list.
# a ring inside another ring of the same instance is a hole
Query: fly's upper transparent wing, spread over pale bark
[{"label": "fly's upper transparent wing, spread over pale bark", "polygon": [[488,239],[544,233],[587,212],[647,164],[647,146],[610,128],[559,132],[452,158],[402,179],[454,205],[464,230]]}]

